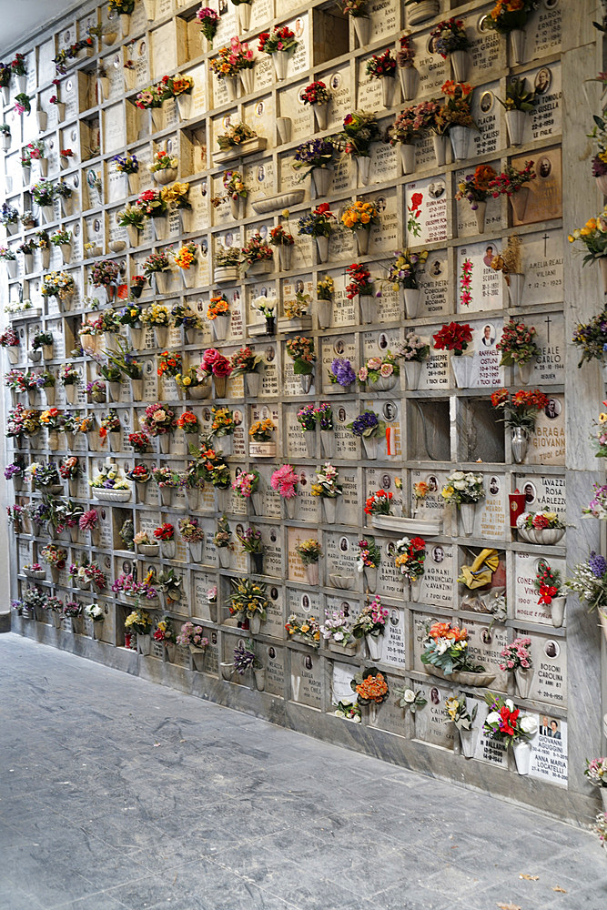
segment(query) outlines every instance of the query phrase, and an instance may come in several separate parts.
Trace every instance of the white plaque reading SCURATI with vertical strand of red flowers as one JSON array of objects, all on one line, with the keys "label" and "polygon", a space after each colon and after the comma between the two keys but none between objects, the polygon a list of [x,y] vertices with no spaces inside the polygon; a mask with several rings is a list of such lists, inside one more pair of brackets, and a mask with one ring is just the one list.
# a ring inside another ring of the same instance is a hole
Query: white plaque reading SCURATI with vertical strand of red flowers
[{"label": "white plaque reading SCURATI with vertical strand of red flowers", "polygon": [[501,272],[491,268],[491,260],[501,251],[501,242],[495,240],[458,248],[458,312],[503,307]]}]

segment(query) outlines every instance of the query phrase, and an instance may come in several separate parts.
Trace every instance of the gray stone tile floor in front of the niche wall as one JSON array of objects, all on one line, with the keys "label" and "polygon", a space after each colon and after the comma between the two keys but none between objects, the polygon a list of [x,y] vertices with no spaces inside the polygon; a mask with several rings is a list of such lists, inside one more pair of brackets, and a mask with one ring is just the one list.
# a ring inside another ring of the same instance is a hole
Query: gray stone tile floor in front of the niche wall
[{"label": "gray stone tile floor in front of the niche wall", "polygon": [[13,634],[0,681],[0,910],[607,906],[587,832]]}]

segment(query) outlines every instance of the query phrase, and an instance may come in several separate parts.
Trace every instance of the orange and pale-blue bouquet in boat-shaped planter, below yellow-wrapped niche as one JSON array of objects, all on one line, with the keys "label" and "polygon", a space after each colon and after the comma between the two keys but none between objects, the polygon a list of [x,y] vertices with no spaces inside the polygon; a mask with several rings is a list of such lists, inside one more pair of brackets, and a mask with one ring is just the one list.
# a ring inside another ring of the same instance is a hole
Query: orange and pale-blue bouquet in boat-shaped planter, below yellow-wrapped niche
[{"label": "orange and pale-blue bouquet in boat-shaped planter, below yellow-wrapped niche", "polygon": [[450,622],[432,622],[421,662],[432,676],[461,685],[487,686],[495,679],[484,667],[471,662],[468,632]]}]

